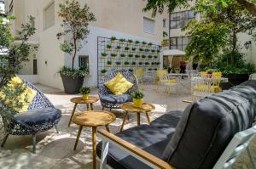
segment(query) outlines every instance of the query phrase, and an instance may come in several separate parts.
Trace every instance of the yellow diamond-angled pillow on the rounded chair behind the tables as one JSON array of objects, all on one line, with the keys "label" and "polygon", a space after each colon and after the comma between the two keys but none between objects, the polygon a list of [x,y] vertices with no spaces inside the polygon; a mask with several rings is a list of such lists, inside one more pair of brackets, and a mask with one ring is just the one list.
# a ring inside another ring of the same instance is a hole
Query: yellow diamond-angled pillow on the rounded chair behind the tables
[{"label": "yellow diamond-angled pillow on the rounded chair behind the tables", "polygon": [[133,84],[128,82],[121,73],[118,73],[110,81],[105,82],[104,85],[115,95],[123,94],[133,86]]}]

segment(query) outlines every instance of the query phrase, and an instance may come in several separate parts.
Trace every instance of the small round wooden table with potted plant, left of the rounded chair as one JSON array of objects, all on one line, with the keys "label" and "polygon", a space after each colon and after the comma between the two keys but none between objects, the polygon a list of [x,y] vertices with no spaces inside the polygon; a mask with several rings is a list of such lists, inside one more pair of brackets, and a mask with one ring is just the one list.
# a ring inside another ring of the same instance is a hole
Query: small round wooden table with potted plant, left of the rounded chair
[{"label": "small round wooden table with potted plant, left of the rounded chair", "polygon": [[68,122],[68,127],[70,127],[71,121],[72,121],[72,117],[73,114],[75,113],[78,104],[86,104],[87,106],[87,110],[93,110],[93,104],[96,103],[99,99],[95,96],[89,96],[89,99],[84,100],[82,97],[76,97],[73,99],[70,99],[70,101],[72,103],[74,103],[73,106],[73,111],[72,111],[72,115],[70,116],[69,122]]}]

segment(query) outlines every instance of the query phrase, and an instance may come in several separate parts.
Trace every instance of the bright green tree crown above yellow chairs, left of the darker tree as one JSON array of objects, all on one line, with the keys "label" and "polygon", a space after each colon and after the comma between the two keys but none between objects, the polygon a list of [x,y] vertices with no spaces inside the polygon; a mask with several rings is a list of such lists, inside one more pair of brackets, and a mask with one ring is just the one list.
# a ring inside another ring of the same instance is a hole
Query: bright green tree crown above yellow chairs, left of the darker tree
[{"label": "bright green tree crown above yellow chairs, left of the darker tree", "polygon": [[192,22],[187,27],[191,41],[186,48],[186,58],[195,63],[211,63],[219,52],[228,44],[228,28],[224,25],[215,25],[213,22]]}]

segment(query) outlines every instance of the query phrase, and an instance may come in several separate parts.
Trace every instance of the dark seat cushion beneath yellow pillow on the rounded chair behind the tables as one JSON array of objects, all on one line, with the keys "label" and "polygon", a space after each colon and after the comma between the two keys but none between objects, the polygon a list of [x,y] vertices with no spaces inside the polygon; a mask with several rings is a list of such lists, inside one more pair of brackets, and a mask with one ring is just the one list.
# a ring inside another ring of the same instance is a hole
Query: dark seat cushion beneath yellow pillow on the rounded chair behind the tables
[{"label": "dark seat cushion beneath yellow pillow on the rounded chair behind the tables", "polygon": [[129,94],[122,94],[122,95],[100,95],[100,99],[102,102],[107,102],[111,104],[123,104],[125,102],[131,102],[132,98]]}]

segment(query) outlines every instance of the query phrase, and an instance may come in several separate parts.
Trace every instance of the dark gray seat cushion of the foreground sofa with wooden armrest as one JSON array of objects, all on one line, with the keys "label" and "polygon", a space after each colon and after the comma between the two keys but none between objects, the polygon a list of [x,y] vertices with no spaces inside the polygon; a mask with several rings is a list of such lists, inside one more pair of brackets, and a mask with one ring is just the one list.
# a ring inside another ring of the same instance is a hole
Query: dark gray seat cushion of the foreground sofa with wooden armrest
[{"label": "dark gray seat cushion of the foreground sofa with wooden armrest", "polygon": [[[119,132],[116,135],[119,138],[136,145],[138,148],[144,149],[148,151],[148,153],[161,158],[164,149],[166,148],[166,144],[168,144],[169,140],[172,138],[172,133],[175,132],[177,122],[181,116],[181,112],[172,113],[160,116],[158,119],[152,121],[150,126],[142,125],[139,127],[132,127],[124,132]],[[170,121],[172,121],[172,123],[170,123]],[[96,153],[99,157],[101,156],[101,152],[102,143],[99,143],[96,149]],[[125,155],[121,149],[114,147],[112,144],[109,145],[108,165],[119,169],[150,168],[131,155]]]}]

